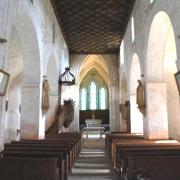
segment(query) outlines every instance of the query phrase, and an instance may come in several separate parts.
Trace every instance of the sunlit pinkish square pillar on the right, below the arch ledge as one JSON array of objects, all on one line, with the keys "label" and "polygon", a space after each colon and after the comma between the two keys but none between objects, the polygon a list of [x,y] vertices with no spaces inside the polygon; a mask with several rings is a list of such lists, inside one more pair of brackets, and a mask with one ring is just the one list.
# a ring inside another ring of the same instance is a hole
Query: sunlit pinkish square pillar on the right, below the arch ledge
[{"label": "sunlit pinkish square pillar on the right, below the arch ledge", "polygon": [[146,139],[168,139],[169,137],[165,83],[148,82],[146,84],[144,135]]}]

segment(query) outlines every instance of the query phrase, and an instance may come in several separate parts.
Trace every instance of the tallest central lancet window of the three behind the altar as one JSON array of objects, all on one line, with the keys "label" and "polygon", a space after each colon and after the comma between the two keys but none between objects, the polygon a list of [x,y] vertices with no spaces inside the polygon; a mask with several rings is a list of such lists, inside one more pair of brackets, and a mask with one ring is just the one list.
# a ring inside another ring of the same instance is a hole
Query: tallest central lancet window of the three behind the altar
[{"label": "tallest central lancet window of the three behind the altar", "polygon": [[90,84],[90,109],[96,109],[96,96],[97,94],[97,86],[95,82],[91,82]]}]

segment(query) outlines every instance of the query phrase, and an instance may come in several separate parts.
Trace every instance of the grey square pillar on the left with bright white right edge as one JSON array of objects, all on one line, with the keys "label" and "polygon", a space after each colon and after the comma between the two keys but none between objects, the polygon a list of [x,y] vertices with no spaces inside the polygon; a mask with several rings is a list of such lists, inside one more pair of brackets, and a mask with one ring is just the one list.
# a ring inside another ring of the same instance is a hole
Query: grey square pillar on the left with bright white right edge
[{"label": "grey square pillar on the left with bright white right edge", "polygon": [[21,97],[21,139],[40,139],[45,135],[41,111],[41,84],[24,84]]}]

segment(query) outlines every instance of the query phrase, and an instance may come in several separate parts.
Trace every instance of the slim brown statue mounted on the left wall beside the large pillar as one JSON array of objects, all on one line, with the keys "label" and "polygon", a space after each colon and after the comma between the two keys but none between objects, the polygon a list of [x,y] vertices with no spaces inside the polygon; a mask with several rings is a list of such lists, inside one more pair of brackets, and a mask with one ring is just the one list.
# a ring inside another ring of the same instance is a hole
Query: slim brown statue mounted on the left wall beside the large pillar
[{"label": "slim brown statue mounted on the left wall beside the large pillar", "polygon": [[49,83],[46,79],[46,76],[44,76],[43,81],[43,91],[42,91],[42,109],[43,111],[47,111],[49,109]]}]

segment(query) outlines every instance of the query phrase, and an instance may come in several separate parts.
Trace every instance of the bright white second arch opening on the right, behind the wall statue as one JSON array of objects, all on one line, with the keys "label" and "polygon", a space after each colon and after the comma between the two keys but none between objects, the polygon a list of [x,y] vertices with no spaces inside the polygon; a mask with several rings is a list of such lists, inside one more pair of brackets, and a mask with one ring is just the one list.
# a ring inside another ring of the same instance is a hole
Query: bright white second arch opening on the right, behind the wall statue
[{"label": "bright white second arch opening on the right, behind the wall statue", "polygon": [[137,54],[134,54],[130,72],[130,121],[132,133],[143,133],[143,115],[138,109],[136,91],[141,80],[141,67]]}]

